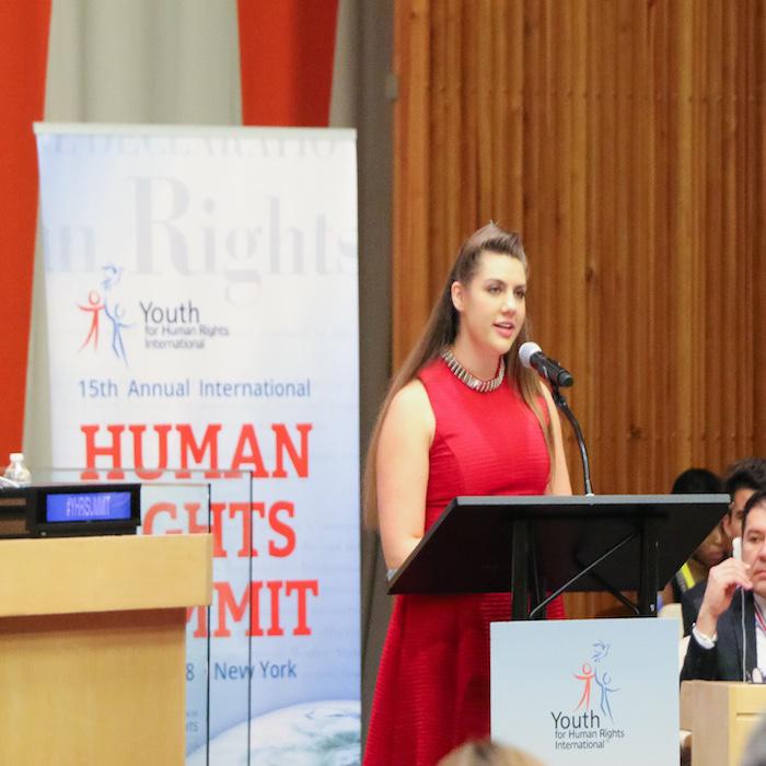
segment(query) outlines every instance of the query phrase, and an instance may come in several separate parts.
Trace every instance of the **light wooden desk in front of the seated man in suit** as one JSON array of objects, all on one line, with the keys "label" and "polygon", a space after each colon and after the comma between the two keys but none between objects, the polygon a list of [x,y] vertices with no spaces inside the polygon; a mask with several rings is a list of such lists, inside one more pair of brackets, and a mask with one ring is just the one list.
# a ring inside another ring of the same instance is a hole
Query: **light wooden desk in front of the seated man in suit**
[{"label": "light wooden desk in front of the seated man in suit", "polygon": [[736,766],[766,713],[766,684],[684,681],[681,728],[692,732],[692,766]]}]

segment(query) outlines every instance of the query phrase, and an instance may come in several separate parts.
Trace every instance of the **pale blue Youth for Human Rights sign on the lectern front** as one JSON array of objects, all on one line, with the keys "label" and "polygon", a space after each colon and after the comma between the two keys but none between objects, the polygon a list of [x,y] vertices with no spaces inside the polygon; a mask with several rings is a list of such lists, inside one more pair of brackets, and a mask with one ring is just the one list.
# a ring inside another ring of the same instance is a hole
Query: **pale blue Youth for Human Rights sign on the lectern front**
[{"label": "pale blue Youth for Human Rights sign on the lectern front", "polygon": [[492,623],[491,734],[550,766],[678,762],[673,620]]}]

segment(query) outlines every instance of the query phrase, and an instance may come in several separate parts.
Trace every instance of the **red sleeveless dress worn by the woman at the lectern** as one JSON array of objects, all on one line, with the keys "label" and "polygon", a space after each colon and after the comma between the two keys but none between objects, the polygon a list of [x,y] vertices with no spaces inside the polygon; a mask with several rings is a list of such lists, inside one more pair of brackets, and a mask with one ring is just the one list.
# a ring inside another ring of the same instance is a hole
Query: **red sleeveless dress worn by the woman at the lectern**
[{"label": "red sleeveless dress worn by the woman at the lectern", "polygon": [[[537,418],[501,385],[477,393],[441,360],[419,374],[436,416],[426,529],[457,495],[542,495],[549,460]],[[548,618],[562,618],[556,600]],[[399,595],[378,671],[365,766],[434,766],[489,735],[489,623],[511,618],[506,593]]]}]

